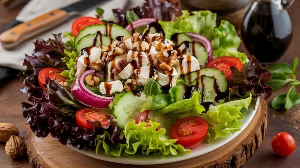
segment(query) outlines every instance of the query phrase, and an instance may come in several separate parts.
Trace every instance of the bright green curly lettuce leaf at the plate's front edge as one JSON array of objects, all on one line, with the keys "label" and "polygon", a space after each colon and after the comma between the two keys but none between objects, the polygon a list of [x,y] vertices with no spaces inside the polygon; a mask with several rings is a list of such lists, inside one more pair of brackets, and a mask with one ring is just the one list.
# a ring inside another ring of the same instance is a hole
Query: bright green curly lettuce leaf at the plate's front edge
[{"label": "bright green curly lettuce leaf at the plate's front edge", "polygon": [[110,144],[110,134],[104,133],[104,136],[98,135],[96,139],[96,155],[103,148],[106,155],[133,156],[137,152],[145,155],[152,154],[159,158],[165,155],[177,155],[178,152],[190,154],[190,149],[184,149],[182,145],[175,144],[177,140],[165,136],[166,129],[161,128],[157,131],[160,123],[150,120],[150,126],[145,122],[135,124],[135,121],[127,122],[125,125],[124,144],[119,143],[117,146]]}]

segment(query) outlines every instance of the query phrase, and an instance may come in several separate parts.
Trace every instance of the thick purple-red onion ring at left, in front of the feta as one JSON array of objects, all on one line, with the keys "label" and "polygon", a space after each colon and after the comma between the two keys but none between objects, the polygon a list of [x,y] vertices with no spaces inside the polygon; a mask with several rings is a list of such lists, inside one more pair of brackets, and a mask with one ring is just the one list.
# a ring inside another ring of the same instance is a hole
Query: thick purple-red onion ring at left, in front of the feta
[{"label": "thick purple-red onion ring at left, in front of the feta", "polygon": [[113,97],[104,97],[97,95],[88,90],[84,85],[85,76],[91,74],[96,75],[100,78],[104,77],[103,74],[95,72],[95,69],[87,70],[79,75],[73,82],[71,86],[71,92],[73,96],[84,105],[95,108],[107,108],[110,102],[113,101]]}]

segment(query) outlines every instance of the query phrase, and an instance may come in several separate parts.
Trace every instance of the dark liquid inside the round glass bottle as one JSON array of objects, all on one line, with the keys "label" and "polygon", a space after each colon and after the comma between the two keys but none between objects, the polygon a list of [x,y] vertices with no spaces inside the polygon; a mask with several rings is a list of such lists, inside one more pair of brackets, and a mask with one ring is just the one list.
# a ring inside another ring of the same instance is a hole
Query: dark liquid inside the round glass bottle
[{"label": "dark liquid inside the round glass bottle", "polygon": [[292,22],[286,10],[272,2],[254,2],[242,26],[244,44],[260,63],[277,61],[292,39]]}]

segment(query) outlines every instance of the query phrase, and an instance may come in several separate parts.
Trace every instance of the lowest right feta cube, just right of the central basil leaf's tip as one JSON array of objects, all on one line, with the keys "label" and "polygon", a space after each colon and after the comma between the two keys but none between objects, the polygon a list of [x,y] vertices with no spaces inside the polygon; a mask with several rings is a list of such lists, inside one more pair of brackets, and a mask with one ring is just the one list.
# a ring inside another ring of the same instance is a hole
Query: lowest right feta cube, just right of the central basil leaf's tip
[{"label": "lowest right feta cube, just right of the central basil leaf's tip", "polygon": [[160,84],[163,87],[176,86],[176,81],[177,81],[176,69],[173,67],[173,69],[167,75],[165,75],[161,72],[157,72],[156,81],[158,82],[158,84]]}]

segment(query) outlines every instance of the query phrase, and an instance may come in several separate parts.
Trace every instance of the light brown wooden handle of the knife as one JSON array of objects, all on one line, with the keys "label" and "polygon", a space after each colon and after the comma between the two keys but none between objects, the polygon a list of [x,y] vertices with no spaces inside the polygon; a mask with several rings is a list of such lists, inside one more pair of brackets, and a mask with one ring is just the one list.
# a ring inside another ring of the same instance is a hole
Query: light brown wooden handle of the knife
[{"label": "light brown wooden handle of the knife", "polygon": [[67,19],[64,10],[52,10],[28,22],[21,23],[0,34],[0,42],[5,49],[16,48],[20,43],[41,34]]}]

